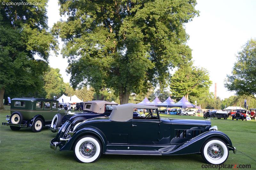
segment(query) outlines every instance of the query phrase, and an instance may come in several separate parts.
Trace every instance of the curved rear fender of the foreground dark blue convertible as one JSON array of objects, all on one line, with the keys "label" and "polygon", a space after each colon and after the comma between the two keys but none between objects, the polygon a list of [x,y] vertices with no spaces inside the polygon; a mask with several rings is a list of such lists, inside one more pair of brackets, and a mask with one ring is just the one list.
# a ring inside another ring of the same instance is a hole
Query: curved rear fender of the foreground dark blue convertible
[{"label": "curved rear fender of the foreground dark blue convertible", "polygon": [[107,145],[106,136],[103,134],[102,131],[100,131],[98,128],[93,127],[93,126],[84,127],[82,129],[80,129],[79,131],[75,132],[73,134],[73,136],[68,140],[68,142],[65,145],[63,145],[63,147],[60,148],[60,151],[72,150],[73,145],[75,144],[76,140],[84,135],[93,135],[93,136],[97,137],[101,141],[102,151],[103,152],[106,151],[106,145]]}]

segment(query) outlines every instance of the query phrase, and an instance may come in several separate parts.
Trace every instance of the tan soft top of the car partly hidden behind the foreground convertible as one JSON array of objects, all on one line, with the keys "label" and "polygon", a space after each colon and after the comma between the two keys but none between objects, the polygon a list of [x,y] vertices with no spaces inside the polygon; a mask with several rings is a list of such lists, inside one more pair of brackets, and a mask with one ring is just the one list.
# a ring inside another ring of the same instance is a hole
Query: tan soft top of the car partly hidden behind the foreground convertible
[{"label": "tan soft top of the car partly hidden behind the foreground convertible", "polygon": [[84,110],[102,114],[105,112],[106,105],[117,105],[117,103],[107,102],[104,100],[92,100],[84,102]]}]

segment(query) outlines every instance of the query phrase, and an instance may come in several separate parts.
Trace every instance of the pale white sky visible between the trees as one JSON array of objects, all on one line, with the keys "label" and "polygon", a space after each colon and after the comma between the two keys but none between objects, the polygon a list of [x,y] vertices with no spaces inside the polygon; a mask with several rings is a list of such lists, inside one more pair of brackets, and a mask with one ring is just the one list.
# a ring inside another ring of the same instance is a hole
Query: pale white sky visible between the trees
[{"label": "pale white sky visible between the trees", "polygon": [[[197,67],[209,71],[214,92],[217,83],[217,96],[221,99],[234,95],[224,87],[227,74],[231,74],[236,62],[237,52],[251,38],[256,38],[256,0],[198,0],[196,10],[199,17],[185,24],[189,35],[188,46],[192,49],[192,60]],[[48,26],[60,19],[58,1],[49,0],[47,7]],[[63,45],[59,39],[60,49]],[[66,73],[68,60],[62,55],[51,53],[49,64],[59,68],[64,82],[69,82],[70,75]]]}]

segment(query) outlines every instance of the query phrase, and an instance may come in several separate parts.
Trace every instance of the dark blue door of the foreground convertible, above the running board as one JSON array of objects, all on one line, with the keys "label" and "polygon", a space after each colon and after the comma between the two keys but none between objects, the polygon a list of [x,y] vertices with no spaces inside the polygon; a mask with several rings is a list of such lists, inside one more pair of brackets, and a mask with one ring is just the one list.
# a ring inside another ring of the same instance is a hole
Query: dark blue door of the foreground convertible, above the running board
[{"label": "dark blue door of the foreground convertible, above the running board", "polygon": [[156,145],[159,141],[159,119],[132,119],[131,145]]}]

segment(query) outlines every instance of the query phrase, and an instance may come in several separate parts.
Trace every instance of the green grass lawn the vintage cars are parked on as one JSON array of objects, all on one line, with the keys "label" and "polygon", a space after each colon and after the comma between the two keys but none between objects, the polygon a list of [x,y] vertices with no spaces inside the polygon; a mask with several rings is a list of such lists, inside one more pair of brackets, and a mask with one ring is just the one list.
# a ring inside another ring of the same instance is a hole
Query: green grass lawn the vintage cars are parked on
[{"label": "green grass lawn the vintage cars are parked on", "polygon": [[[10,106],[0,111],[0,122],[7,122]],[[201,119],[203,117],[162,115],[162,117]],[[229,152],[225,164],[251,164],[256,169],[256,122],[214,118],[212,125],[226,133],[237,153]],[[49,142],[56,133],[44,128],[39,133],[30,128],[12,131],[0,125],[0,169],[201,169],[205,164],[201,155],[141,156],[102,155],[95,163],[78,163],[73,152],[60,152],[50,148]]]}]

